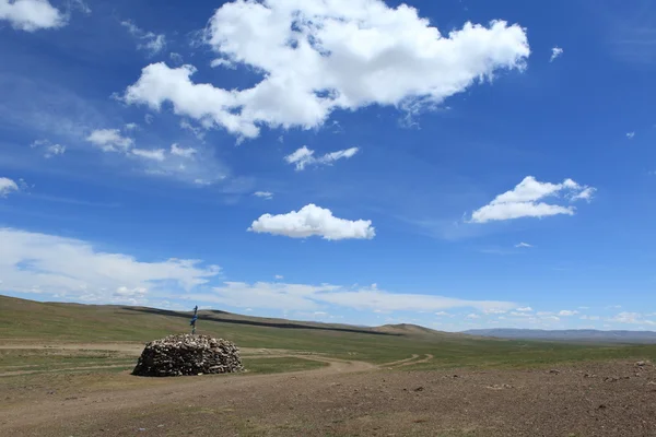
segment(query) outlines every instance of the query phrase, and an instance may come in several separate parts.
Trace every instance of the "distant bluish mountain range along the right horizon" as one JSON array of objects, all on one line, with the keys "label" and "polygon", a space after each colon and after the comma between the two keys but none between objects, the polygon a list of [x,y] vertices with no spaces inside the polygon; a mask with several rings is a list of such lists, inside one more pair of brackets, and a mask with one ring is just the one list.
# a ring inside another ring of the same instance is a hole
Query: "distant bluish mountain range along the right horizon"
[{"label": "distant bluish mountain range along the right horizon", "polygon": [[550,340],[569,342],[600,343],[654,343],[654,331],[598,331],[595,329],[567,329],[547,331],[542,329],[470,329],[462,333],[479,336],[494,336],[514,340]]}]

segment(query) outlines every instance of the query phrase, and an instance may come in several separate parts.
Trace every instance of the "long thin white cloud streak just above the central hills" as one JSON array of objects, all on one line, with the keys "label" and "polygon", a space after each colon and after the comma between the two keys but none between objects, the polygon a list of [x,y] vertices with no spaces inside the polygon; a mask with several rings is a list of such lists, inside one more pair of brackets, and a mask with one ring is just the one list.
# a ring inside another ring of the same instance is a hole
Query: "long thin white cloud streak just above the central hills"
[{"label": "long thin white cloud streak just above the central hills", "polygon": [[338,285],[285,284],[280,282],[226,282],[214,287],[212,295],[188,298],[229,305],[236,308],[318,310],[335,305],[358,310],[442,311],[449,308],[512,308],[516,304],[495,300],[467,300],[429,294],[403,294],[378,290],[372,285],[347,288]]}]

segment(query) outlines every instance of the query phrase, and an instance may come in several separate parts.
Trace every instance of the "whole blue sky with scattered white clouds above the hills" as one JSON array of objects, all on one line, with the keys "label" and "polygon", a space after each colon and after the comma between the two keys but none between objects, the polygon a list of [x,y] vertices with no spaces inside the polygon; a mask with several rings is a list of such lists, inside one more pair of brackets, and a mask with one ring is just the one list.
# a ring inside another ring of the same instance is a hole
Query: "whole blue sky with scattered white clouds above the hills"
[{"label": "whole blue sky with scattered white clouds above the hills", "polygon": [[0,0],[0,293],[656,326],[649,1]]}]

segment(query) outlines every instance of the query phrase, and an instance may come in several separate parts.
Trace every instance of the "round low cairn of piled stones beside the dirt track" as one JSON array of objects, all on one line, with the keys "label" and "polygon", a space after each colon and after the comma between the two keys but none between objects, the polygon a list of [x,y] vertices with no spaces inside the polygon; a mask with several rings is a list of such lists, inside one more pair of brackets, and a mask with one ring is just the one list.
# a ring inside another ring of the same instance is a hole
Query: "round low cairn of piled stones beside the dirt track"
[{"label": "round low cairn of piled stones beside the dirt track", "polygon": [[132,375],[183,376],[243,370],[239,349],[227,340],[178,334],[148,343]]}]

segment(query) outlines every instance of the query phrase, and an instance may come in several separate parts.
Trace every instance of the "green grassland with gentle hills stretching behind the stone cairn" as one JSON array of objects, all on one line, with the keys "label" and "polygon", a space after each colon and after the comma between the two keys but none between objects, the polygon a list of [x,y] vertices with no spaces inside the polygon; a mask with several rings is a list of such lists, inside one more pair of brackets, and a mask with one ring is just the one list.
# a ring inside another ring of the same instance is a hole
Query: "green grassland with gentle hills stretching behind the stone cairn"
[{"label": "green grassland with gentle hills stretching behind the stone cairn", "polygon": [[[188,332],[188,312],[162,311],[119,306],[43,304],[0,296],[0,345],[3,342],[137,342],[144,343],[171,333]],[[202,311],[198,333],[223,338],[241,347],[282,349],[326,354],[328,356],[384,364],[431,354],[433,359],[403,369],[452,367],[535,367],[562,363],[606,359],[656,359],[655,345],[593,345],[550,342],[509,341],[473,338],[458,333],[432,331],[412,326],[379,329],[341,324],[293,322]],[[24,352],[27,354],[27,352]],[[39,354],[36,354],[39,355]],[[66,368],[81,358],[72,356],[22,357],[40,367]],[[87,362],[128,363],[129,357],[97,351]],[[274,363],[274,358],[273,362]],[[298,368],[297,362],[283,358],[280,366]],[[289,358],[294,359],[294,358]],[[0,366],[15,365],[15,357],[0,355]],[[82,359],[83,361],[83,359]],[[255,361],[254,361],[255,362]],[[320,365],[305,362],[305,366]],[[5,363],[2,365],[2,363]],[[251,366],[274,367],[270,363]],[[0,368],[0,371],[2,369]]]}]

